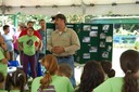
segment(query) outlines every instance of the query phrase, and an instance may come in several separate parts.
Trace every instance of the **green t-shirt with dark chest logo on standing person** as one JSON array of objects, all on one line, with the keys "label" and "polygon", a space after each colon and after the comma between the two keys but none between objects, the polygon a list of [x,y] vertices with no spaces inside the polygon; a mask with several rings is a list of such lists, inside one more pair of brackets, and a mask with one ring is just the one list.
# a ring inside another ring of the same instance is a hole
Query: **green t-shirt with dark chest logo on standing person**
[{"label": "green t-shirt with dark chest logo on standing person", "polygon": [[36,41],[39,42],[38,37],[36,36],[29,37],[26,35],[26,36],[20,37],[17,41],[23,44],[24,54],[31,56],[36,53],[35,42]]}]

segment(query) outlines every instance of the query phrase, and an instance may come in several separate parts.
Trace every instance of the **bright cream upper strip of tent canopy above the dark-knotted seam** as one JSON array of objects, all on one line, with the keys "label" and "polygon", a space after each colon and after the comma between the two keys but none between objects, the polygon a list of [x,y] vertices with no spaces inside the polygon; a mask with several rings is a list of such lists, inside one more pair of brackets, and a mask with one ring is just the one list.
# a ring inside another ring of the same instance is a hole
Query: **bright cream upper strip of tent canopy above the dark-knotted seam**
[{"label": "bright cream upper strip of tent canopy above the dark-knotted seam", "polygon": [[1,3],[12,6],[33,6],[33,5],[72,5],[72,4],[111,4],[116,3],[135,3],[135,0],[3,0]]}]

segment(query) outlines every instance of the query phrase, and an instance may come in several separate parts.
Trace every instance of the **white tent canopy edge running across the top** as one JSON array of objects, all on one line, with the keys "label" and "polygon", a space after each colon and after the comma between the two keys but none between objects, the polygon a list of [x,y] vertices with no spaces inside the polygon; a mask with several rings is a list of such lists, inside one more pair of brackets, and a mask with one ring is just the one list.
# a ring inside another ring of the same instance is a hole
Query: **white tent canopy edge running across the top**
[{"label": "white tent canopy edge running across the top", "polygon": [[[136,0],[0,0],[0,13],[48,14],[139,14]],[[113,4],[113,5],[112,5]]]}]

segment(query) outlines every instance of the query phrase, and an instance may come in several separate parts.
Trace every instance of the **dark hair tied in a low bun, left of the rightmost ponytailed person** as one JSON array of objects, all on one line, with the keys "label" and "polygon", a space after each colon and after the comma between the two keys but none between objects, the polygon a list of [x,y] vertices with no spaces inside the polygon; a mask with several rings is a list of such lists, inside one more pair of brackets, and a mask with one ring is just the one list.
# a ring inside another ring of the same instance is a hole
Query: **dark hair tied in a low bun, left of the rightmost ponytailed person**
[{"label": "dark hair tied in a low bun, left of the rightmost ponytailed person", "polygon": [[115,70],[112,68],[112,63],[110,61],[102,61],[100,64],[109,78],[115,76]]}]

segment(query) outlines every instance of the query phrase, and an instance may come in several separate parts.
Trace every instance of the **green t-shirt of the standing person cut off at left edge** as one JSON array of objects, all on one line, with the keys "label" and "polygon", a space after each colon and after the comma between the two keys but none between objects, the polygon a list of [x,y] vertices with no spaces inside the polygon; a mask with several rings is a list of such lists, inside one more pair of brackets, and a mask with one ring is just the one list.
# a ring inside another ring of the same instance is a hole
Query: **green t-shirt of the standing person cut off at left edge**
[{"label": "green t-shirt of the standing person cut off at left edge", "polygon": [[4,58],[4,51],[2,48],[0,48],[0,73],[2,73],[4,76],[7,76],[7,70],[8,70],[8,64],[3,64],[1,60]]}]

